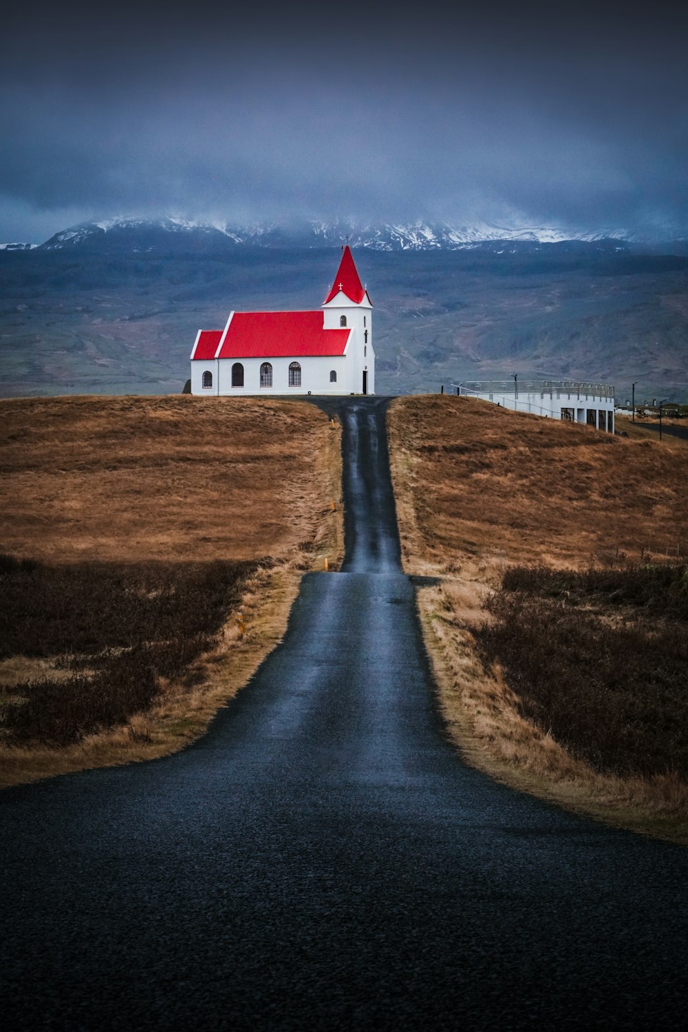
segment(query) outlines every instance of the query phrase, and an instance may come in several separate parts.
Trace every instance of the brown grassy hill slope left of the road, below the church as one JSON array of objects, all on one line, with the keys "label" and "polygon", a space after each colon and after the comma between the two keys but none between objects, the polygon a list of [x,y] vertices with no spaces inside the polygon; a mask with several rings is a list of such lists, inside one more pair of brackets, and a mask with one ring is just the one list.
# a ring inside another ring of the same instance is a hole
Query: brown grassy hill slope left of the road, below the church
[{"label": "brown grassy hill slope left of the road, below the church", "polygon": [[335,437],[302,401],[3,400],[0,543],[51,562],[292,556],[339,496]]}]

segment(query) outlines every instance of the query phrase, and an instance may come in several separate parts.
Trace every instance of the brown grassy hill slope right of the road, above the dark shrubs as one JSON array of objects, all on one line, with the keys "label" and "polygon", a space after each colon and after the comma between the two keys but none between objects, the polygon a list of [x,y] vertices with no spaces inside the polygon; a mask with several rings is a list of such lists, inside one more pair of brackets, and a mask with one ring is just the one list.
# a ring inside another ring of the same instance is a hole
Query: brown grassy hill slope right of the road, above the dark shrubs
[{"label": "brown grassy hill slope right of the road, above the dark shrubs", "polygon": [[688,554],[686,442],[633,442],[448,395],[395,399],[389,426],[412,572]]}]

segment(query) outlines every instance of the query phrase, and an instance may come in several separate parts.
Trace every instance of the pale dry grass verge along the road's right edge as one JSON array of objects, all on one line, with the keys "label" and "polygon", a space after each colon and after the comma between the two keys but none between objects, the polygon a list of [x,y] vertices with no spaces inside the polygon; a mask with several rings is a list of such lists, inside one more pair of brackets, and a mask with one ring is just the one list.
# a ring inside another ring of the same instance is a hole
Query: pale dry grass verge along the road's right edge
[{"label": "pale dry grass verge along the road's right edge", "polygon": [[[417,584],[416,606],[450,742],[468,766],[511,788],[607,826],[688,845],[685,785],[670,775],[624,779],[598,774],[526,720],[499,671],[485,670],[470,624],[483,615],[476,600],[489,589],[494,569],[466,555],[464,577],[447,576],[424,556],[413,457],[402,447],[394,408],[392,402],[387,427],[402,566],[411,576],[434,581]],[[455,611],[445,584],[465,589],[464,614]]]}]

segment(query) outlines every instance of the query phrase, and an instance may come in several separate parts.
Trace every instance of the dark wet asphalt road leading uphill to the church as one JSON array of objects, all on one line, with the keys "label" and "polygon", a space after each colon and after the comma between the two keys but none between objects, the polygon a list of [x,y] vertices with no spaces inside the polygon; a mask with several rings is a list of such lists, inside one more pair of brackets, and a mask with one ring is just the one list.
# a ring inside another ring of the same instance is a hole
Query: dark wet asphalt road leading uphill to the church
[{"label": "dark wet asphalt road leading uphill to the church", "polygon": [[347,399],[342,573],[166,760],[0,795],[8,1030],[669,1029],[688,851],[446,741],[383,399]]}]

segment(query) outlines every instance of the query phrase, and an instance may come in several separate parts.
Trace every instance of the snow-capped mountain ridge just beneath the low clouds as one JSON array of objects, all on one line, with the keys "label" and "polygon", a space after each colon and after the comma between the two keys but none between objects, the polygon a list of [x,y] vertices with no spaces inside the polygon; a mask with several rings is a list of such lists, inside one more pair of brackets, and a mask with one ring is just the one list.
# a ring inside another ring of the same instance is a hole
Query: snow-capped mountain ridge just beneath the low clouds
[{"label": "snow-capped mountain ridge just beneath the low clouds", "polygon": [[[664,227],[664,235],[651,240],[618,227],[571,229],[556,226],[498,225],[478,222],[412,222],[356,225],[348,221],[307,221],[300,225],[256,223],[230,225],[224,222],[197,222],[190,219],[108,219],[88,222],[64,229],[40,245],[42,251],[72,248],[97,251],[126,251],[145,254],[157,251],[215,251],[236,247],[322,248],[338,247],[346,239],[357,248],[373,251],[456,251],[484,248],[497,244],[544,245],[581,241],[603,244],[618,241],[659,243],[685,240],[688,232]],[[19,249],[18,245],[8,245]]]}]

